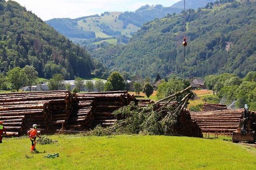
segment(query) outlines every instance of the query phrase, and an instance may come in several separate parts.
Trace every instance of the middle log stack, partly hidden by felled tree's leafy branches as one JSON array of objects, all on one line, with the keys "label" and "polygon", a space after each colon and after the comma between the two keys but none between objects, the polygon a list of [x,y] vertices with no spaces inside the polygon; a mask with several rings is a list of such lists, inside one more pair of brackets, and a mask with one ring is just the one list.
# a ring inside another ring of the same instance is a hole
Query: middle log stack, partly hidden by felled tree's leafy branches
[{"label": "middle log stack, partly hidden by felled tree's leafy branches", "polygon": [[[88,102],[93,100],[92,105],[93,114],[88,114],[87,121],[90,122],[92,128],[97,125],[108,127],[114,124],[116,118],[112,115],[113,111],[127,106],[130,102],[134,101],[134,95],[128,94],[127,91],[115,92],[95,92],[86,94],[74,94],[75,100],[80,102]],[[78,109],[78,112],[80,109]]]}]

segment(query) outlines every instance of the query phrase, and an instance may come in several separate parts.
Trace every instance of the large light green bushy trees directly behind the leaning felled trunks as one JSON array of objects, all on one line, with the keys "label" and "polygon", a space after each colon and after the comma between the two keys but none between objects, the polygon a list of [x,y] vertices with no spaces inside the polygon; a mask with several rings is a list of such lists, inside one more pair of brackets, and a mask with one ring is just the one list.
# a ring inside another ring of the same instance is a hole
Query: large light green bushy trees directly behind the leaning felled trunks
[{"label": "large light green bushy trees directly behind the leaning felled trunks", "polygon": [[174,76],[170,78],[168,82],[163,82],[158,85],[156,96],[158,100],[160,100],[162,98],[175,94],[176,92],[180,92],[188,86],[190,86],[190,82],[188,79]]}]

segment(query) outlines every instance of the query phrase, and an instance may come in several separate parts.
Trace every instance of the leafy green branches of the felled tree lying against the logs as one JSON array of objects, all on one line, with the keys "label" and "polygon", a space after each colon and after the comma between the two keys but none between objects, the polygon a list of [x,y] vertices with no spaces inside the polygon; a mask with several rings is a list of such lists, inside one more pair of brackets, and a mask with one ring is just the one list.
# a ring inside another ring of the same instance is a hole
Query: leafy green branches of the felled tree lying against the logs
[{"label": "leafy green branches of the felled tree lying against the logs", "polygon": [[[171,111],[173,108],[168,109]],[[156,110],[154,104],[142,108],[132,102],[113,114],[116,117],[124,117],[124,120],[118,121],[112,127],[116,133],[122,134],[166,135],[172,133],[172,124],[176,122],[176,117],[164,120],[163,110]]]}]

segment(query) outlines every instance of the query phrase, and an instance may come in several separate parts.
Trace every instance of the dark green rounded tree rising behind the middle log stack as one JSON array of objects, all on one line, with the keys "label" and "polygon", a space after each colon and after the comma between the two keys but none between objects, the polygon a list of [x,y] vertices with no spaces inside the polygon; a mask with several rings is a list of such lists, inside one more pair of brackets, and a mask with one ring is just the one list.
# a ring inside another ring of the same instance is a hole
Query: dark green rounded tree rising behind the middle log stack
[{"label": "dark green rounded tree rising behind the middle log stack", "polygon": [[112,72],[108,77],[108,81],[111,82],[114,91],[124,90],[125,82],[124,78],[121,76],[119,72]]}]

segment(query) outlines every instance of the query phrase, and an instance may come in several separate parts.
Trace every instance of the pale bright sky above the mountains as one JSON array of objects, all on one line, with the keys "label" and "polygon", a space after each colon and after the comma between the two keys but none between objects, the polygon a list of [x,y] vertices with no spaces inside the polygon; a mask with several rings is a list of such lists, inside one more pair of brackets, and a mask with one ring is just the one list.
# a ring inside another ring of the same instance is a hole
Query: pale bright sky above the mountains
[{"label": "pale bright sky above the mountains", "polygon": [[172,6],[180,0],[14,0],[42,20],[78,18],[105,11],[135,11],[145,4]]}]

